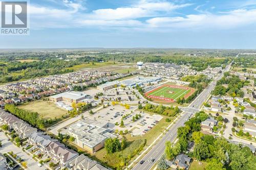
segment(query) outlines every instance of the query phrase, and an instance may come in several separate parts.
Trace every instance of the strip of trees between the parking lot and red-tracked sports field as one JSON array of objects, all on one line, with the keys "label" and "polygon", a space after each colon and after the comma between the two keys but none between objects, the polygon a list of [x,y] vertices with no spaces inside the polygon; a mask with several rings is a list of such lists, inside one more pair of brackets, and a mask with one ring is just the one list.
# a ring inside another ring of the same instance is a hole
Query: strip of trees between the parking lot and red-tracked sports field
[{"label": "strip of trees between the parking lot and red-tracked sports field", "polygon": [[147,103],[144,107],[143,110],[150,111],[153,113],[158,113],[166,116],[175,116],[177,113],[180,112],[180,109],[176,107],[165,107],[163,105],[155,106],[150,103]]}]

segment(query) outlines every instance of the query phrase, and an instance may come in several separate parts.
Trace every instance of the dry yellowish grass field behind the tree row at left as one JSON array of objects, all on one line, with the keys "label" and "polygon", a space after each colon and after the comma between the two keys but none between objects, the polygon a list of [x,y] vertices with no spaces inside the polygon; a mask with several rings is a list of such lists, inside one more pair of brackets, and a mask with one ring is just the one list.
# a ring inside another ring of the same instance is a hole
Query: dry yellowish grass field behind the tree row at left
[{"label": "dry yellowish grass field behind the tree row at left", "polygon": [[43,118],[49,119],[60,118],[62,115],[66,115],[67,111],[58,108],[54,103],[49,101],[37,100],[18,106],[21,109],[37,112]]}]

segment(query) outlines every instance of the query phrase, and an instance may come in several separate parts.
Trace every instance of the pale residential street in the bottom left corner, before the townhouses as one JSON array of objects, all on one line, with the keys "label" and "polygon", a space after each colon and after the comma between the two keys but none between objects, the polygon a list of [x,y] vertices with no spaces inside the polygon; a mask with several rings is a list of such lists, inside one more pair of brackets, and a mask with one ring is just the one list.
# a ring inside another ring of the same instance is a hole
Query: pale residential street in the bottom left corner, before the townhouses
[{"label": "pale residential street in the bottom left corner, before the townhouses", "polygon": [[22,151],[22,148],[18,148],[16,145],[14,145],[11,141],[8,141],[6,135],[4,132],[0,132],[0,138],[2,139],[2,148],[0,149],[1,153],[7,153],[7,152],[13,152],[20,158],[22,158],[25,162],[27,162],[27,169],[31,170],[43,170],[46,169],[44,165],[41,167],[38,167],[36,162],[32,157],[28,156],[25,152]]}]

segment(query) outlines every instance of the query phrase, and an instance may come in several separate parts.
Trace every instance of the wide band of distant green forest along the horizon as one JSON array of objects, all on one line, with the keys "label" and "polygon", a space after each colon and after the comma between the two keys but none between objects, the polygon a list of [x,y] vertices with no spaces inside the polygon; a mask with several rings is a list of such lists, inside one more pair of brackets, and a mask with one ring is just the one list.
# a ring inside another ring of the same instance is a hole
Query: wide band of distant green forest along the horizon
[{"label": "wide band of distant green forest along the horizon", "polygon": [[[134,50],[129,53],[106,53],[98,50],[91,56],[91,53],[81,51],[63,51],[63,52],[16,52],[16,53],[0,53],[0,83],[17,81],[26,78],[35,78],[53,74],[63,74],[73,71],[67,69],[72,66],[101,61],[114,62],[161,62],[176,63],[191,66],[196,70],[203,70],[206,67],[216,67],[226,65],[231,59],[219,58],[214,52],[204,54],[198,53],[199,56],[185,56],[185,52],[172,53],[168,50]],[[220,54],[219,54],[220,55]],[[68,57],[71,56],[71,57]],[[72,58],[72,56],[74,58]],[[203,57],[202,57],[203,56]],[[221,55],[220,55],[221,56]],[[19,62],[19,59],[38,60],[34,62]],[[64,60],[64,59],[69,59]],[[71,59],[71,60],[70,60]]]}]

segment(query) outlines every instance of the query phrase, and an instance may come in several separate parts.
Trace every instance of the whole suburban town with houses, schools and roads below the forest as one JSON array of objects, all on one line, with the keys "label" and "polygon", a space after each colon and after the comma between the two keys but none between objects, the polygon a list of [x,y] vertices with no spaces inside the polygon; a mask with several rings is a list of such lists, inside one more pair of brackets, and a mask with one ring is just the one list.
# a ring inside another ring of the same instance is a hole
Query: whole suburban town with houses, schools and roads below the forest
[{"label": "whole suburban town with houses, schools and roads below the forest", "polygon": [[91,62],[3,83],[1,168],[204,169],[209,162],[198,147],[207,140],[254,155],[256,74],[236,60],[202,69]]}]

